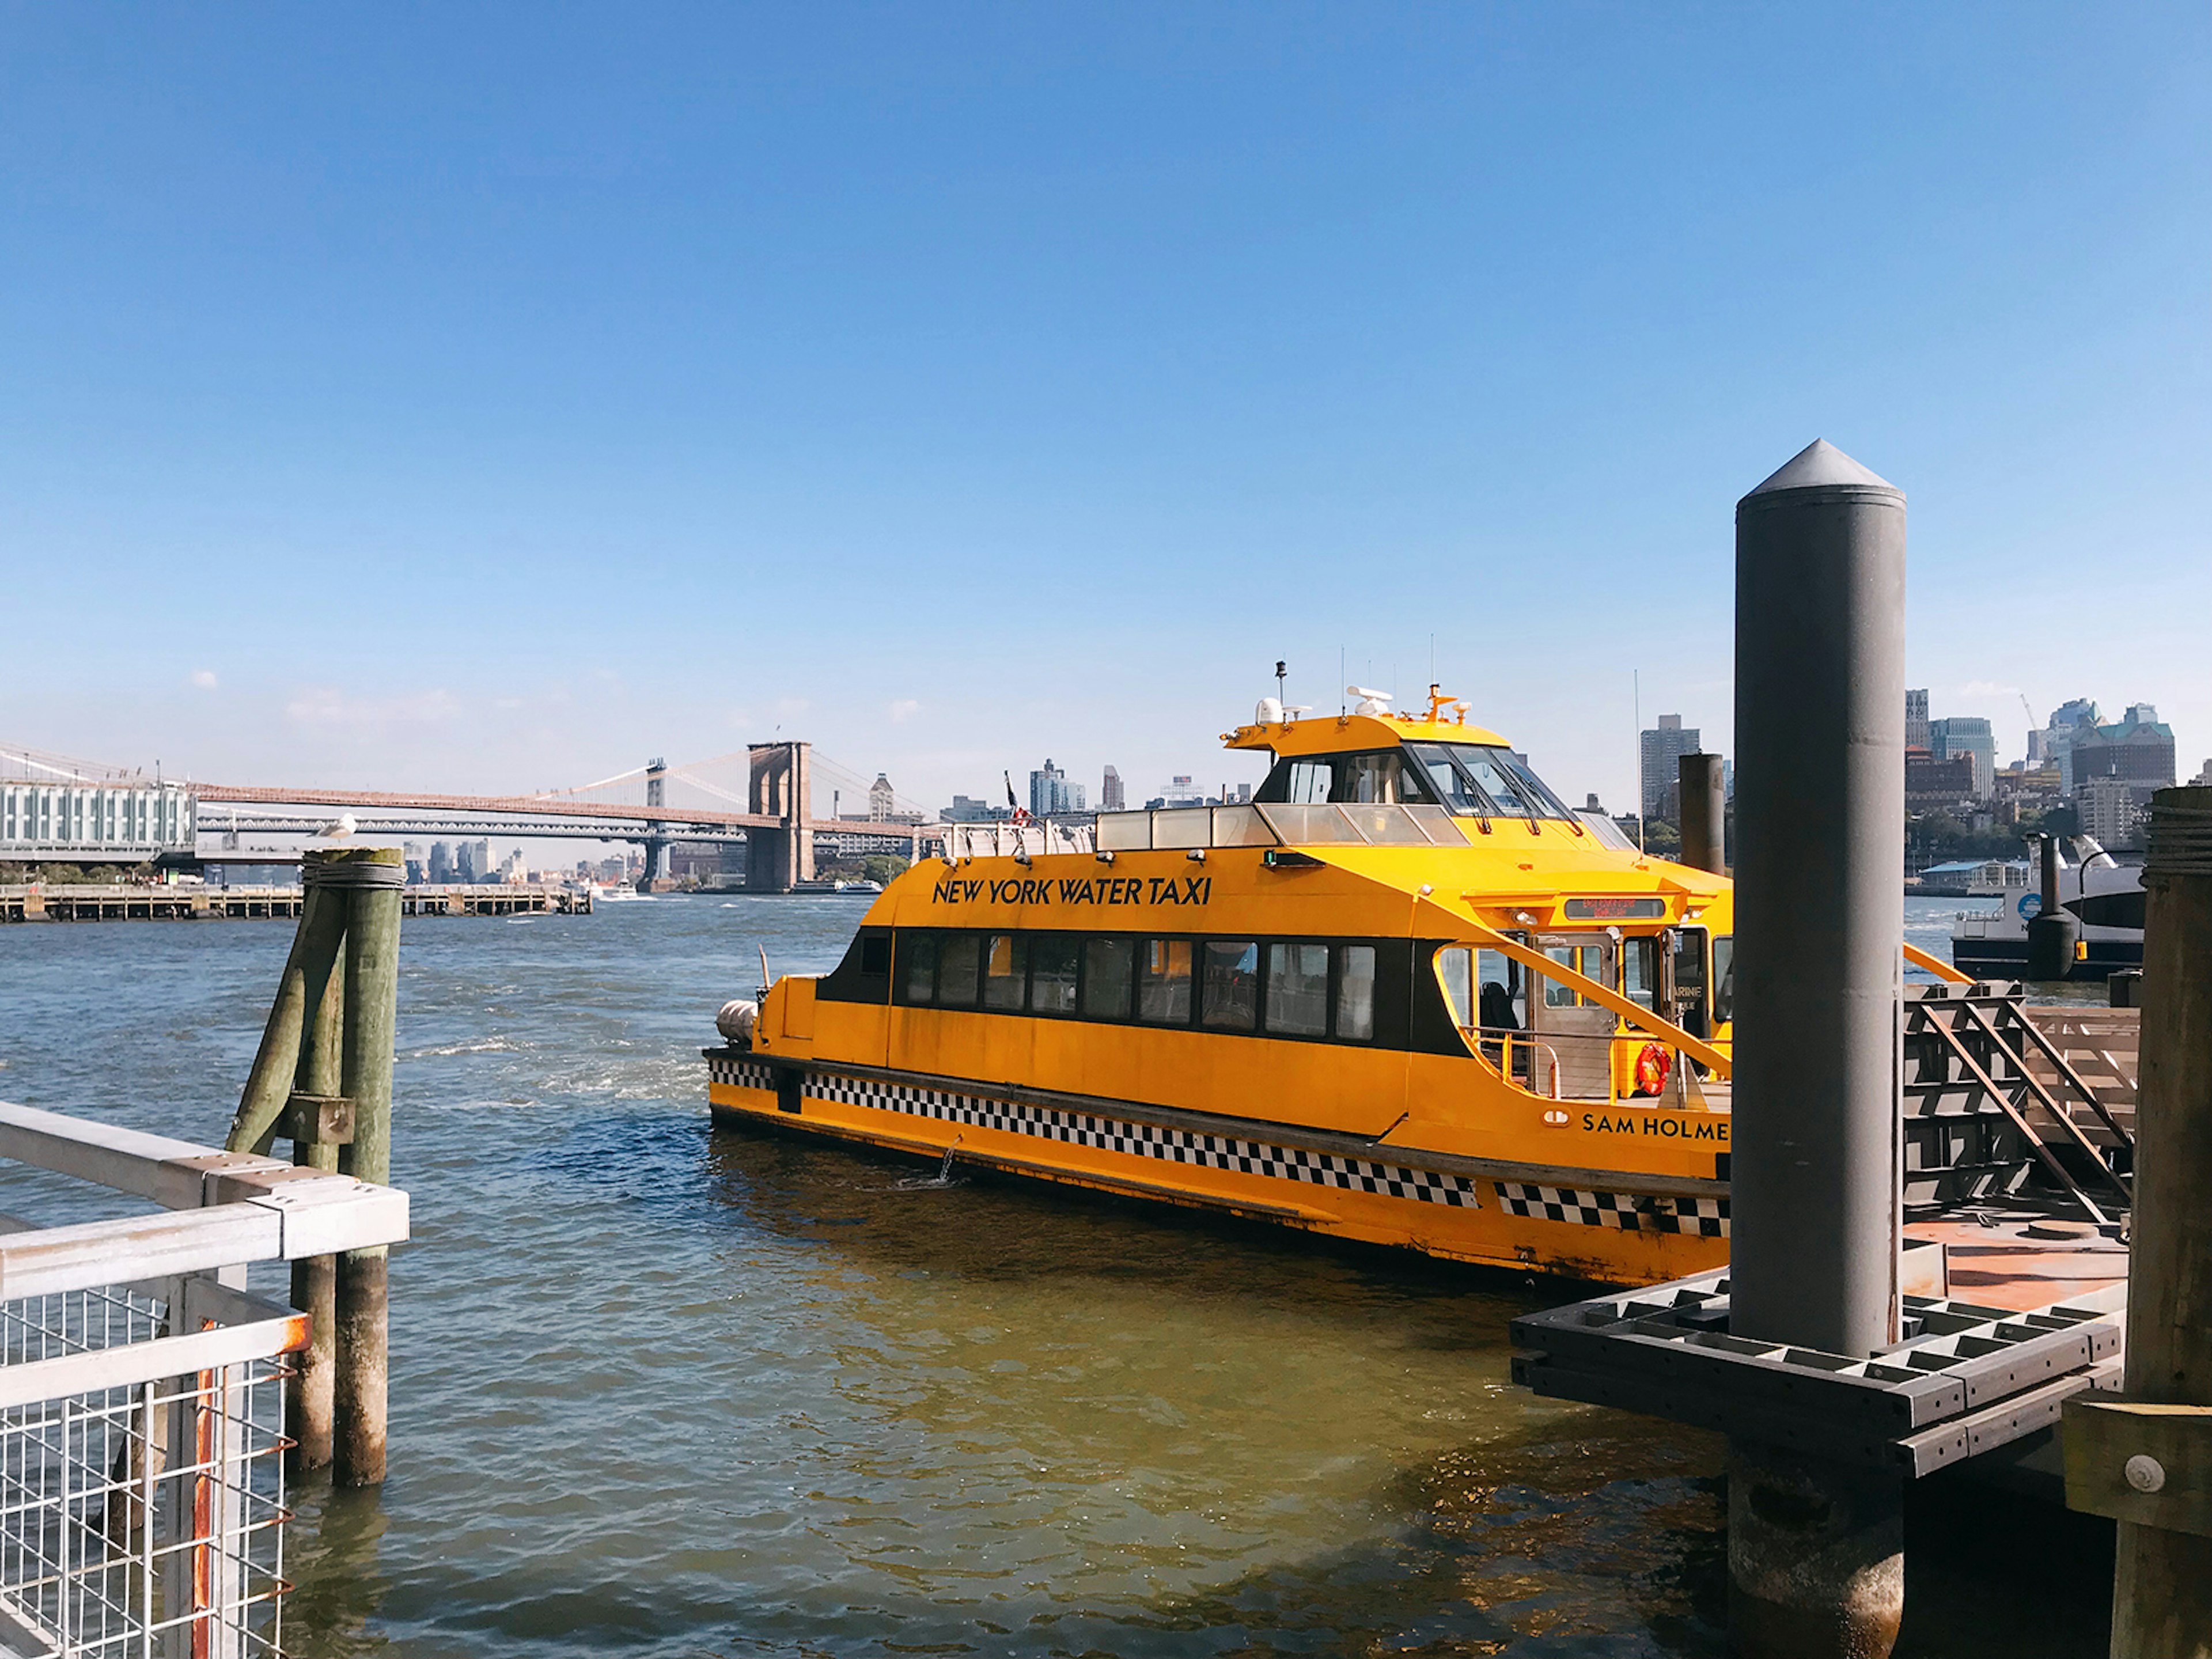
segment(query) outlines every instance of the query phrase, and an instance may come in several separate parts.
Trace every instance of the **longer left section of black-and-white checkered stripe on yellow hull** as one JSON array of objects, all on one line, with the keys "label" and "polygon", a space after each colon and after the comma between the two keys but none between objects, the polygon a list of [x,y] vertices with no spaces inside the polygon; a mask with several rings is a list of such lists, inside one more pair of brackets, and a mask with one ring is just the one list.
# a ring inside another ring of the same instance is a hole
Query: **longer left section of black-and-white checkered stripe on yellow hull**
[{"label": "longer left section of black-and-white checkered stripe on yellow hull", "polygon": [[1197,1135],[1192,1130],[1166,1128],[1161,1124],[1135,1124],[1121,1117],[1104,1117],[1099,1113],[1024,1106],[1020,1102],[991,1099],[987,1095],[962,1095],[945,1088],[920,1088],[916,1084],[891,1084],[874,1077],[847,1077],[843,1073],[827,1071],[810,1071],[805,1075],[803,1093],[814,1099],[869,1106],[878,1113],[936,1117],[947,1124],[971,1124],[975,1128],[995,1128],[1006,1135],[1029,1135],[1044,1141],[1095,1146],[1104,1152],[1150,1157],[1161,1164],[1194,1164],[1212,1170],[1239,1170],[1243,1175],[1265,1175],[1279,1181],[1307,1181],[1312,1186],[1340,1188],[1345,1192],[1376,1192],[1394,1199],[1416,1199],[1418,1203],[1444,1203],[1460,1210],[1478,1210],[1482,1206],[1475,1183],[1464,1175],[1416,1170],[1402,1164],[1378,1164],[1371,1159],[1343,1157],[1338,1152],[1312,1152],[1303,1146],[1272,1146],[1267,1141],[1245,1141],[1232,1135]]}]

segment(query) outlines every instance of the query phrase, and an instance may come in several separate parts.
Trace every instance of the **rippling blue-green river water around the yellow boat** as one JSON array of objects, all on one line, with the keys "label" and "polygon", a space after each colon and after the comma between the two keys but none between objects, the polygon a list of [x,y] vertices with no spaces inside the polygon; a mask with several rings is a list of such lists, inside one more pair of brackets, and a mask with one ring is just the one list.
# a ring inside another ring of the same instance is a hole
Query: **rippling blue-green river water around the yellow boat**
[{"label": "rippling blue-green river water around the yellow boat", "polygon": [[[1509,1385],[1571,1290],[710,1130],[714,1009],[858,916],[407,922],[392,1480],[296,1493],[288,1648],[1721,1652],[1719,1440]],[[0,929],[0,1097],[219,1141],[290,936]],[[2099,1542],[1962,1513],[1900,1652],[2101,1652]]]}]

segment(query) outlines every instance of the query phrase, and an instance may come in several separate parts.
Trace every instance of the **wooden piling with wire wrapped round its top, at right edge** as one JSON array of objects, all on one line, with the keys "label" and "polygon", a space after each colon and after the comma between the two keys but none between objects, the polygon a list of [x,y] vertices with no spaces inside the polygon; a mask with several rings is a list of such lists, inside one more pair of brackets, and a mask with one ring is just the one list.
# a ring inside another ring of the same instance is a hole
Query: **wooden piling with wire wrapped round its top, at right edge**
[{"label": "wooden piling with wire wrapped round its top, at right edge", "polygon": [[2141,1453],[2117,1462],[2139,1493],[2170,1486],[2168,1517],[2194,1528],[2119,1522],[2112,1659],[2203,1659],[2212,1655],[2212,790],[2159,790],[2143,887],[2126,1398],[2181,1411],[2161,1425],[2174,1436],[2166,1451],[2174,1469]]}]

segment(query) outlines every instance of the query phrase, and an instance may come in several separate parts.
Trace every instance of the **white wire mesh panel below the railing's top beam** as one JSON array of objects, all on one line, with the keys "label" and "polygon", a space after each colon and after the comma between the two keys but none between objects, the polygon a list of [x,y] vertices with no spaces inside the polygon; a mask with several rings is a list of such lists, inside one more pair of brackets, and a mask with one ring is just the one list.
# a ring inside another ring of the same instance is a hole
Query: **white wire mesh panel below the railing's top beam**
[{"label": "white wire mesh panel below the railing's top beam", "polygon": [[281,1312],[197,1276],[0,1303],[0,1655],[279,1652],[290,1338],[241,1305]]}]

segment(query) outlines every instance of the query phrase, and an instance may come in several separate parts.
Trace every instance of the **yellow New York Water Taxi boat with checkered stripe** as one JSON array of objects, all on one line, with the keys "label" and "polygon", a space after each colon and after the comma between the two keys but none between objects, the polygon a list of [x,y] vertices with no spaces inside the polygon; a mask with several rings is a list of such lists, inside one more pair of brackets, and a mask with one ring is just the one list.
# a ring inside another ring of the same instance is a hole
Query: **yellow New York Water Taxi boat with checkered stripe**
[{"label": "yellow New York Water Taxi boat with checkered stripe", "polygon": [[1433,1256],[1728,1259],[1734,900],[1504,737],[1261,701],[1250,805],[947,825],[845,960],[721,1011],[719,1121]]}]

